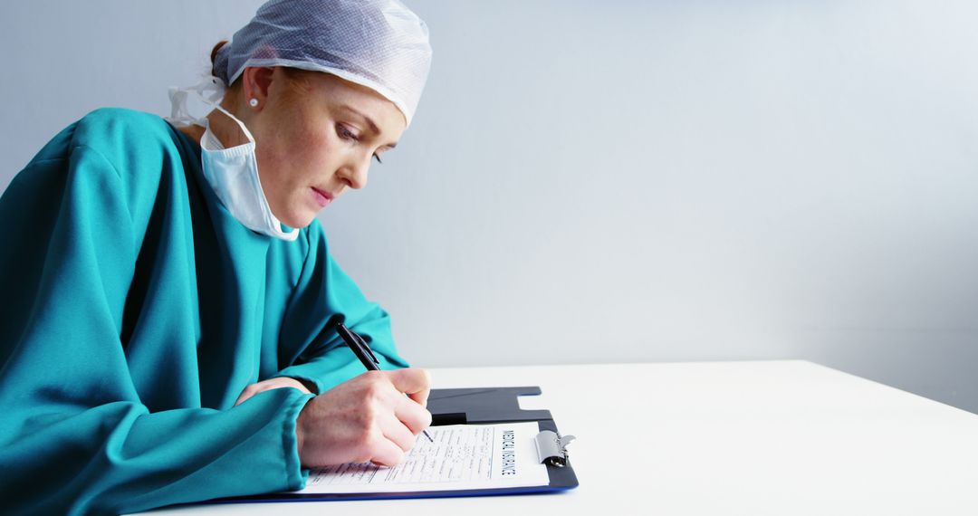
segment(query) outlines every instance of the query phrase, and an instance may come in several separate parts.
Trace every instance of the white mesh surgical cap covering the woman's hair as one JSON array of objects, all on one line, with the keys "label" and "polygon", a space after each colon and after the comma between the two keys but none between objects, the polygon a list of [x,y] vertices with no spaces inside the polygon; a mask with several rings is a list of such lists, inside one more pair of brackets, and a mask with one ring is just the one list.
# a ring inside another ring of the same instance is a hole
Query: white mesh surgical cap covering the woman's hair
[{"label": "white mesh surgical cap covering the woman's hair", "polygon": [[229,86],[245,66],[332,73],[378,92],[410,124],[431,46],[427,25],[398,0],[271,0],[214,57]]}]

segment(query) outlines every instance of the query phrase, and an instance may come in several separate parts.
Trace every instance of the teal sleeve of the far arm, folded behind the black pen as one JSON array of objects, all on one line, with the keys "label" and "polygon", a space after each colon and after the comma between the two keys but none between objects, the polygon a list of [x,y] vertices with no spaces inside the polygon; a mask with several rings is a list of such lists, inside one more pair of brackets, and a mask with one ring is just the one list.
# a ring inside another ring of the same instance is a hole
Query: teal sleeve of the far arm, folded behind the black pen
[{"label": "teal sleeve of the far arm, folded behind the black pen", "polygon": [[324,393],[366,369],[335,331],[319,339],[328,324],[342,322],[370,344],[381,369],[407,367],[394,346],[390,316],[368,301],[360,288],[336,265],[322,226],[306,233],[308,255],[289,301],[280,347],[292,350],[291,366],[278,376],[300,378]]}]

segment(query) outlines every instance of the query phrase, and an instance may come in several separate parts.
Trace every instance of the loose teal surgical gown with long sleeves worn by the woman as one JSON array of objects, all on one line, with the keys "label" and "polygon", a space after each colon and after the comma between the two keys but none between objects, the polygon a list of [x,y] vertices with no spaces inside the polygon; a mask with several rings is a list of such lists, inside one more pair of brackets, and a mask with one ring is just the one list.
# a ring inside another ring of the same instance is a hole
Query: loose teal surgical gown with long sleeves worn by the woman
[{"label": "loose teal surgical gown with long sleeves worn by the woman", "polygon": [[146,510],[301,489],[295,420],[364,368],[327,323],[407,364],[387,314],[336,266],[318,221],[256,234],[217,199],[200,146],[158,116],[93,111],[0,197],[4,513]]}]

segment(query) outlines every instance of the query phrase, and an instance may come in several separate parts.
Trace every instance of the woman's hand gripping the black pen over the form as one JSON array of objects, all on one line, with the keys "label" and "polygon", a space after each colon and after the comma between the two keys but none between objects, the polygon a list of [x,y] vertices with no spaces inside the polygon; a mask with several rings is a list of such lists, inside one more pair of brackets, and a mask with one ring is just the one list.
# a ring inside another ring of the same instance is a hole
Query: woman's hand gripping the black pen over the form
[{"label": "woman's hand gripping the black pen over the form", "polygon": [[424,369],[367,371],[313,398],[295,424],[302,465],[401,462],[431,424],[429,384]]}]

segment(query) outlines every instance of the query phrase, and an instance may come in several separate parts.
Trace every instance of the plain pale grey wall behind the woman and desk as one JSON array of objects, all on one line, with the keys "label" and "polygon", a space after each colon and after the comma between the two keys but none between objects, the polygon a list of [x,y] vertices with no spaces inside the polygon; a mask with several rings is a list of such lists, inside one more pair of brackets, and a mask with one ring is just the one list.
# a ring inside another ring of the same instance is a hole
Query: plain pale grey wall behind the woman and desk
[{"label": "plain pale grey wall behind the woman and desk", "polygon": [[[0,189],[259,4],[0,4]],[[409,5],[420,111],[322,221],[416,365],[800,358],[978,410],[978,4]]]}]

